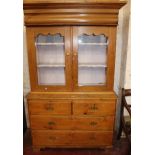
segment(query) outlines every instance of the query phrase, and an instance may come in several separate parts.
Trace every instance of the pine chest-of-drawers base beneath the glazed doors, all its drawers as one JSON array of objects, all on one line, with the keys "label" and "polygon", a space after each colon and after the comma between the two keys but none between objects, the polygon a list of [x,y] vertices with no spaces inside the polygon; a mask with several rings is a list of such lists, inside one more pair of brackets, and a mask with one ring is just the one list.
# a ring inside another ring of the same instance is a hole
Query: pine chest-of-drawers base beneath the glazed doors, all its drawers
[{"label": "pine chest-of-drawers base beneath the glazed doors, all its drawers", "polygon": [[34,150],[112,147],[116,96],[60,94],[28,95]]}]

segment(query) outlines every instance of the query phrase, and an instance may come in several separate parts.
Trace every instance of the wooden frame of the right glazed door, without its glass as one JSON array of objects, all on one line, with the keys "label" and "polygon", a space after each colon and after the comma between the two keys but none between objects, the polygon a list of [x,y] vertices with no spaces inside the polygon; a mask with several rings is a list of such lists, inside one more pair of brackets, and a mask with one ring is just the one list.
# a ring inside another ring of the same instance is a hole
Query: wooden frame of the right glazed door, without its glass
[{"label": "wooden frame of the right glazed door, without its glass", "polygon": [[[107,57],[107,84],[105,86],[78,86],[78,44],[80,34],[104,34],[109,37]],[[74,91],[113,91],[115,69],[116,27],[106,26],[73,26],[73,85]]]}]

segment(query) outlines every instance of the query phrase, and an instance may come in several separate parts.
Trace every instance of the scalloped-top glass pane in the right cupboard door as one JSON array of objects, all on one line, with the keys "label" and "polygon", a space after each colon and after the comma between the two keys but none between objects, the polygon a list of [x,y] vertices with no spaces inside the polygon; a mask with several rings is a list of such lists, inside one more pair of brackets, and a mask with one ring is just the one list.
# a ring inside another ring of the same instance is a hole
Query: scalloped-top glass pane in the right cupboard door
[{"label": "scalloped-top glass pane in the right cupboard door", "polygon": [[104,35],[78,37],[78,85],[106,84],[108,39]]}]

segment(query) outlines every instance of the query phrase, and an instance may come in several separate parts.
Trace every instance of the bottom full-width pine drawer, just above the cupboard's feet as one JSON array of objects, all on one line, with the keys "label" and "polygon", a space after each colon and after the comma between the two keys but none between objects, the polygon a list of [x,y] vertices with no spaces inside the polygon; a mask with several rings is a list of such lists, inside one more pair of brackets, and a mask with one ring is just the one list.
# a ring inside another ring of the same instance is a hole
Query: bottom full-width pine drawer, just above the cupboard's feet
[{"label": "bottom full-width pine drawer, just above the cupboard's feet", "polygon": [[112,132],[96,131],[32,131],[35,146],[107,146],[112,145]]}]

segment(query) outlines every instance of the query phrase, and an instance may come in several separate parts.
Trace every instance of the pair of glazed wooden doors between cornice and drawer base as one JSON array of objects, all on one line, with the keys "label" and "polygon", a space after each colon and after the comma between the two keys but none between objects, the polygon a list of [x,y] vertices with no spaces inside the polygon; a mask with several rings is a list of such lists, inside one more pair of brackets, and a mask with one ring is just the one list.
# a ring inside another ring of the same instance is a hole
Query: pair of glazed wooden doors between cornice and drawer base
[{"label": "pair of glazed wooden doors between cornice and drawer base", "polygon": [[113,87],[115,29],[27,28],[32,90],[102,91]]}]

